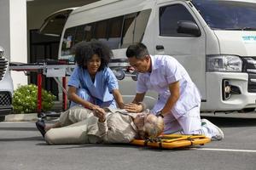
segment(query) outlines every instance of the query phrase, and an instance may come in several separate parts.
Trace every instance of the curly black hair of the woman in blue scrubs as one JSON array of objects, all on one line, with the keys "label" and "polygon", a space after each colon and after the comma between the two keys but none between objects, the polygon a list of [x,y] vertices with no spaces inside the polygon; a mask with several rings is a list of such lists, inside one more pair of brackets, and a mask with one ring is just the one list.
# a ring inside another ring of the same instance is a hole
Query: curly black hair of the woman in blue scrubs
[{"label": "curly black hair of the woman in blue scrubs", "polygon": [[92,40],[90,42],[79,42],[73,47],[74,60],[84,69],[87,69],[87,62],[94,54],[97,54],[101,59],[101,66],[99,71],[108,67],[109,60],[112,58],[113,53],[111,49],[103,42]]}]

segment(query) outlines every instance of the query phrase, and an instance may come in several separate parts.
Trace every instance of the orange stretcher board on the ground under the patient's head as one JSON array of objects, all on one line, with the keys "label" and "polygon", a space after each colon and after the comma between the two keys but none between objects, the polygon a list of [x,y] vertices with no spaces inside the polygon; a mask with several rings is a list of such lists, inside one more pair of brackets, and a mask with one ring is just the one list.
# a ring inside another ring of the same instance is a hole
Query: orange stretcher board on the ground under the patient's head
[{"label": "orange stretcher board on the ground under the patient's head", "polygon": [[164,134],[157,139],[134,139],[131,144],[149,146],[154,148],[182,148],[193,145],[204,145],[211,141],[204,135],[183,135],[183,134]]}]

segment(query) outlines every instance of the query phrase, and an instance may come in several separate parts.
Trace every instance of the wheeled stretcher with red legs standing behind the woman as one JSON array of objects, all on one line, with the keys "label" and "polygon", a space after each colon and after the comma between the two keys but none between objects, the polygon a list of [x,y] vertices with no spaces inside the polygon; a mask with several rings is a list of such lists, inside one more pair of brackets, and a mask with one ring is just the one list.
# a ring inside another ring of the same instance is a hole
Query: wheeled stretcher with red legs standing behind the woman
[{"label": "wheeled stretcher with red legs standing behind the woman", "polygon": [[[131,77],[137,81],[137,73],[134,71],[128,62],[128,59],[111,59],[108,64],[118,80],[123,80],[125,77]],[[37,63],[20,63],[12,62],[9,69],[12,71],[24,71],[38,73],[38,116],[42,116],[42,77],[52,77],[62,89],[63,111],[67,110],[67,76],[72,74],[74,63],[69,63],[66,60],[44,59]],[[62,82],[57,78],[61,78]],[[44,116],[59,116],[60,114],[43,114]]]}]

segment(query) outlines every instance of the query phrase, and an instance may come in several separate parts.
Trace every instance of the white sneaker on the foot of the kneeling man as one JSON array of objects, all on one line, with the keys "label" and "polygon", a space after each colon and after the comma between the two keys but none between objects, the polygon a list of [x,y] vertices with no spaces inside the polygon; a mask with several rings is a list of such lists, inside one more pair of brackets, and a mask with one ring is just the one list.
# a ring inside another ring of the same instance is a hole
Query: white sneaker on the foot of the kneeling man
[{"label": "white sneaker on the foot of the kneeling man", "polygon": [[224,139],[224,133],[223,131],[214,125],[212,122],[208,121],[207,119],[201,119],[202,126],[206,126],[208,128],[211,128],[213,135],[212,140],[222,140]]}]

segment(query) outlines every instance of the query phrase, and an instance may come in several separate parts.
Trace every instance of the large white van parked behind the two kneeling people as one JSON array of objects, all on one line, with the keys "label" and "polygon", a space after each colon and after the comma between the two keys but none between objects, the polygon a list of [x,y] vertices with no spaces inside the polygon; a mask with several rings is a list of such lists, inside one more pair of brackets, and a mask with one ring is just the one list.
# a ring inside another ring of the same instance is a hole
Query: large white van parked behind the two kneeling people
[{"label": "large white van parked behind the two kneeling people", "polygon": [[[201,92],[201,111],[254,111],[256,2],[252,0],[102,0],[74,8],[61,33],[59,59],[73,61],[80,41],[108,43],[114,58],[143,42],[175,57]],[[119,82],[131,101],[136,82]],[[147,99],[156,99],[147,94]]]}]

